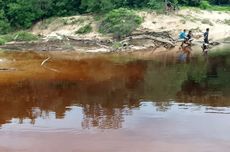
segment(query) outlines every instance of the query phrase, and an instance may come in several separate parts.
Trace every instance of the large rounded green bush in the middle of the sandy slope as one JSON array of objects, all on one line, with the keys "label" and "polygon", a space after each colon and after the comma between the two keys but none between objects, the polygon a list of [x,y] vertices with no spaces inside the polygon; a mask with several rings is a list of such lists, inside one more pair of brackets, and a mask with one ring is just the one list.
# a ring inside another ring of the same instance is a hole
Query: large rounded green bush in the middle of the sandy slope
[{"label": "large rounded green bush in the middle of the sandy slope", "polygon": [[99,26],[99,32],[108,34],[111,33],[115,37],[129,35],[142,23],[142,18],[135,14],[134,11],[119,8],[110,11]]}]

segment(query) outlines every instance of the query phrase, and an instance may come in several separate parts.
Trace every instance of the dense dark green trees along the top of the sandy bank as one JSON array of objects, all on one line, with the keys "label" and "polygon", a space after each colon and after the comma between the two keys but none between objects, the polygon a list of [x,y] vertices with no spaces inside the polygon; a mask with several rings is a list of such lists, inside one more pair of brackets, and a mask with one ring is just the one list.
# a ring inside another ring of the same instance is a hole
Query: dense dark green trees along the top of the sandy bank
[{"label": "dense dark green trees along the top of the sandy bank", "polygon": [[[230,11],[229,0],[168,0],[174,6]],[[163,0],[0,0],[0,34],[30,28],[35,22],[57,16],[105,14],[113,9],[163,10]],[[77,22],[73,20],[73,24]],[[64,22],[63,24],[68,24]]]}]

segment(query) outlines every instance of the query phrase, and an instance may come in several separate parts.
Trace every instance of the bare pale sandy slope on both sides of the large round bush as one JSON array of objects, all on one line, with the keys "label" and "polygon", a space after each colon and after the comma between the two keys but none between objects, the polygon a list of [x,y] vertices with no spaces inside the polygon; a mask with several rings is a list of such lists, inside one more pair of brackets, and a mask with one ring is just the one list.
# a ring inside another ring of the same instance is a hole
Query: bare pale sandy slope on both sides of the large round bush
[{"label": "bare pale sandy slope on both sides of the large round bush", "polygon": [[[144,18],[138,30],[170,31],[177,38],[183,29],[192,30],[194,35],[202,37],[202,32],[210,28],[210,39],[221,40],[230,36],[230,12],[203,11],[199,9],[183,9],[176,14],[159,15],[155,12],[137,12]],[[91,24],[93,32],[86,35],[77,35],[75,32],[82,26]],[[32,28],[35,34],[55,37],[58,35],[72,35],[83,38],[107,38],[97,32],[98,22],[92,16],[71,16],[49,19],[39,22]]]}]

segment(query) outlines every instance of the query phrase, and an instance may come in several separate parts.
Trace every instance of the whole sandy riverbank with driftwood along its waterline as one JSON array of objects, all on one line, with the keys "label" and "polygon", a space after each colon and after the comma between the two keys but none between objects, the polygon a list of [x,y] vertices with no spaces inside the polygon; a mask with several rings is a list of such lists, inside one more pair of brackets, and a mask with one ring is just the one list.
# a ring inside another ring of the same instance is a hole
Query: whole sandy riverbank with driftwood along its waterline
[{"label": "whole sandy riverbank with driftwood along its waterline", "polygon": [[[117,40],[113,35],[98,32],[99,20],[95,16],[71,16],[51,18],[37,23],[28,32],[40,37],[32,42],[9,42],[0,46],[2,50],[26,51],[71,51],[72,53],[139,53],[146,56],[153,52],[175,54],[180,43],[177,37],[183,29],[192,30],[194,50],[203,41],[203,32],[210,28],[210,41],[223,43],[230,35],[230,12],[182,9],[174,14],[157,14],[153,11],[136,11],[143,18],[138,29],[129,36]],[[92,31],[76,33],[86,25]],[[147,53],[146,53],[147,52]]]}]

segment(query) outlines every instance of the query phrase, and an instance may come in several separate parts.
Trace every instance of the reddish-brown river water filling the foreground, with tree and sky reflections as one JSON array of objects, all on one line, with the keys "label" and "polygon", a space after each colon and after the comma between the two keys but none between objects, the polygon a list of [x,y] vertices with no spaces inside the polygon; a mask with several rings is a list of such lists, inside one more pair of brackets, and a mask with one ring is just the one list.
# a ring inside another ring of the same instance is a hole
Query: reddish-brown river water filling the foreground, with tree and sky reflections
[{"label": "reddish-brown river water filling the foreground, with tree and sky reflections", "polygon": [[230,56],[0,53],[0,152],[227,152]]}]

